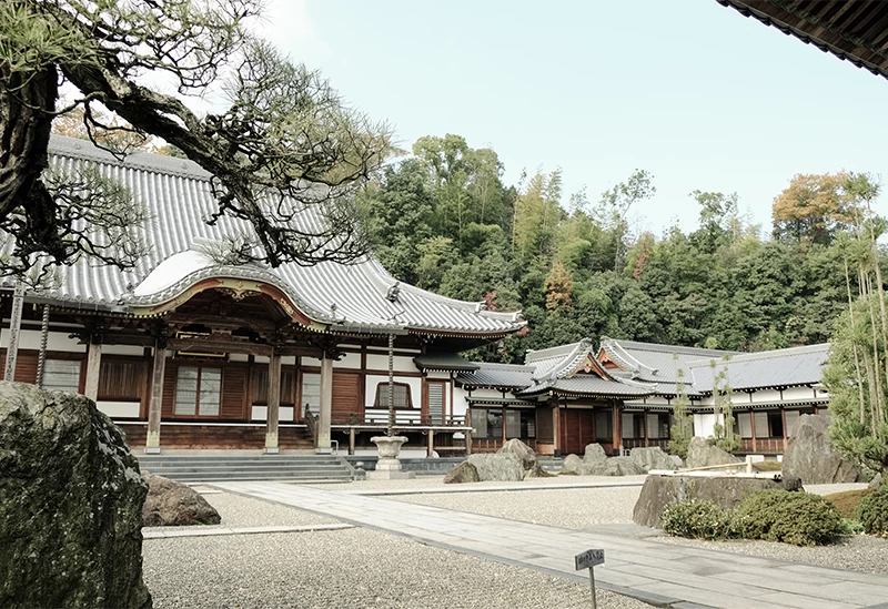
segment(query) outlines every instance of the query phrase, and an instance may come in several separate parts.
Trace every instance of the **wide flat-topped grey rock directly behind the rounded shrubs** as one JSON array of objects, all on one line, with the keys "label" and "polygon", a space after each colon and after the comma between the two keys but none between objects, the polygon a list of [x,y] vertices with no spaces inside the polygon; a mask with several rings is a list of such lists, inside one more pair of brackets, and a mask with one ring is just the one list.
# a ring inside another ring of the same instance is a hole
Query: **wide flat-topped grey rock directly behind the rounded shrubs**
[{"label": "wide flat-topped grey rock directly behind the rounded shrubs", "polygon": [[635,503],[632,519],[636,525],[659,528],[663,510],[676,501],[709,500],[733,509],[750,493],[783,488],[786,488],[783,483],[765,478],[648,476]]}]

